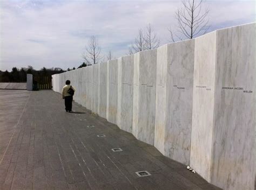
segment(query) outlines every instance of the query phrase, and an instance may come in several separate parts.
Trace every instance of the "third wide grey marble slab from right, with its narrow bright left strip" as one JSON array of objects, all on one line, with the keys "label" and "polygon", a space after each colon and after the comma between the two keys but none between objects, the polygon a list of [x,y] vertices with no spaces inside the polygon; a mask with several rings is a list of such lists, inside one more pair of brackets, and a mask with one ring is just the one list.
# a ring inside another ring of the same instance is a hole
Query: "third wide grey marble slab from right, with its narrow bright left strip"
[{"label": "third wide grey marble slab from right, with its narrow bright left strip", "polygon": [[134,54],[133,135],[154,145],[157,50]]}]

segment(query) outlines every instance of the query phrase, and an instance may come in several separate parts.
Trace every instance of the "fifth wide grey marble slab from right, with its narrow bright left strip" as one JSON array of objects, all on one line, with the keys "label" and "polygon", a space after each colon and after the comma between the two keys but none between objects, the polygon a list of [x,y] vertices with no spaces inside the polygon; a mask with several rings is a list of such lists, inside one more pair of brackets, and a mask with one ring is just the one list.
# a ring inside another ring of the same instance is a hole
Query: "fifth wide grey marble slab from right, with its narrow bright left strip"
[{"label": "fifth wide grey marble slab from right, with its narrow bright left strip", "polygon": [[117,124],[117,59],[107,61],[107,121]]}]

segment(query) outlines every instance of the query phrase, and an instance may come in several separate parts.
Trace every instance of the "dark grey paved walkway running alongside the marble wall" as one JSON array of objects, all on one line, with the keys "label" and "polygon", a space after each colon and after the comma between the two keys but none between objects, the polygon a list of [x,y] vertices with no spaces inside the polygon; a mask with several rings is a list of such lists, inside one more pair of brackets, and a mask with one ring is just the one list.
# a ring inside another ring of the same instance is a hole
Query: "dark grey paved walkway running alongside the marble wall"
[{"label": "dark grey paved walkway running alongside the marble wall", "polygon": [[[50,90],[0,90],[0,189],[219,189],[80,105],[73,110]],[[135,173],[145,170],[149,177]]]}]

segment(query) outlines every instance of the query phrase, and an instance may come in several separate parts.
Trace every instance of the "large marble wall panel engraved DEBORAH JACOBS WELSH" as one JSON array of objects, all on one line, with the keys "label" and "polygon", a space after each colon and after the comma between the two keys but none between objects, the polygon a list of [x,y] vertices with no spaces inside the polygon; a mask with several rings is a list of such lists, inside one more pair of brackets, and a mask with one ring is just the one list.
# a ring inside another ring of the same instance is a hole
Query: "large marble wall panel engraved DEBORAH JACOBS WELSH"
[{"label": "large marble wall panel engraved DEBORAH JACOBS WELSH", "polygon": [[256,24],[217,31],[211,183],[254,189]]}]

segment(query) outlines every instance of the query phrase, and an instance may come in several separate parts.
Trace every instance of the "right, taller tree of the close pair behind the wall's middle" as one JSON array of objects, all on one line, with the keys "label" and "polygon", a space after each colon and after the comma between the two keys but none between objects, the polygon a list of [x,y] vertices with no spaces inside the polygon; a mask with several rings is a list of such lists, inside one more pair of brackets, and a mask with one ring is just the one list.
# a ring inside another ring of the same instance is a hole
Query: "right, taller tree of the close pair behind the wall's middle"
[{"label": "right, taller tree of the close pair behind the wall's middle", "polygon": [[154,33],[154,30],[150,24],[147,25],[143,38],[145,41],[145,44],[144,44],[145,50],[152,50],[154,48],[159,47],[160,40],[157,38],[157,34]]}]

